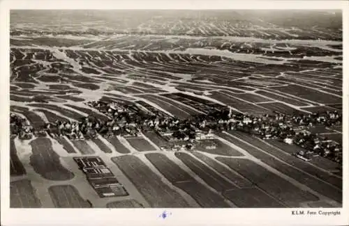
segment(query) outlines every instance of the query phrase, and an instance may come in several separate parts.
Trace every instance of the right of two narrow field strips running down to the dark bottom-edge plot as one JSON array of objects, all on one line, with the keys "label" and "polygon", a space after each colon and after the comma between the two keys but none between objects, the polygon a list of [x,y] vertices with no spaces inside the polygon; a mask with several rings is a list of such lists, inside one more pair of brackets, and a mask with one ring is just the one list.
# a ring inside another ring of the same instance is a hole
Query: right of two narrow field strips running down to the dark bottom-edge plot
[{"label": "right of two narrow field strips running down to the dark bottom-edge plot", "polygon": [[211,159],[210,157],[206,156],[205,154],[202,154],[200,152],[193,152],[193,155],[200,159],[201,161],[205,162],[208,166],[211,168],[214,168],[217,172],[221,173],[224,177],[228,178],[230,181],[232,181],[234,184],[239,186],[240,188],[248,188],[252,187],[253,184],[248,179],[238,175],[236,172],[233,172],[232,170],[226,168],[218,161]]}]

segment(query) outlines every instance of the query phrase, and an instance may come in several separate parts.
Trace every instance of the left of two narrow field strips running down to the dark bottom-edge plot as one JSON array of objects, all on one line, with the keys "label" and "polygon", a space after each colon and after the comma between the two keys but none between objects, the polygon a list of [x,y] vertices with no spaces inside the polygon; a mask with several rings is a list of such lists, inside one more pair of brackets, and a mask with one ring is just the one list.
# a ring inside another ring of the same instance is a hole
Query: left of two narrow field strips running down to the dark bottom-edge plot
[{"label": "left of two narrow field strips running down to the dark bottom-edge plot", "polygon": [[223,192],[232,188],[237,188],[235,184],[225,180],[216,172],[205,166],[204,163],[196,160],[193,156],[184,152],[176,152],[174,155],[177,156],[177,158],[180,159],[186,166],[188,166],[188,168],[195,172],[198,177],[204,180],[206,184],[214,188],[214,190]]}]

